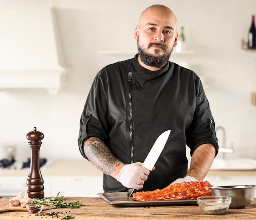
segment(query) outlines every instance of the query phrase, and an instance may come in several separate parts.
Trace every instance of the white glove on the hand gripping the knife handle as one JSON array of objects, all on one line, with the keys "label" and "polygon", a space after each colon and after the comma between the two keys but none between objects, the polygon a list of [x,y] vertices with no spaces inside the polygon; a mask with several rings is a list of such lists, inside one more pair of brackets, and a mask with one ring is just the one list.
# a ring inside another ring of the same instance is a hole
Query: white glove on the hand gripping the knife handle
[{"label": "white glove on the hand gripping the knife handle", "polygon": [[124,165],[117,177],[117,181],[127,188],[142,189],[149,175],[149,170],[141,167],[142,164],[141,162],[136,162]]}]

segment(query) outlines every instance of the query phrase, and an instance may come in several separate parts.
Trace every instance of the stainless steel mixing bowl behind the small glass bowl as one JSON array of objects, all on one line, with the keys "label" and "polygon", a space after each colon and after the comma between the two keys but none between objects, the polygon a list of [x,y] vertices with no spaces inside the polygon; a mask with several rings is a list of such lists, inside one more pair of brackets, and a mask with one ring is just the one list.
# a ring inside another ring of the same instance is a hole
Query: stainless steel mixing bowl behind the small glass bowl
[{"label": "stainless steel mixing bowl behind the small glass bowl", "polygon": [[230,196],[232,201],[229,209],[242,209],[252,202],[255,195],[256,186],[220,186],[209,187],[209,189],[211,189],[213,196]]}]

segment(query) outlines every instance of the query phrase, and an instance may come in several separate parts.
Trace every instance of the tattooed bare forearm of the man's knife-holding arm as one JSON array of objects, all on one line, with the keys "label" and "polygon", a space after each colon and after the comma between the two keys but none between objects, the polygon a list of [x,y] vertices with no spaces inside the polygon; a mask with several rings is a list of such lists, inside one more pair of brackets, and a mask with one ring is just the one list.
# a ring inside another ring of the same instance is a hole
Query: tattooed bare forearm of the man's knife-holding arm
[{"label": "tattooed bare forearm of the man's knife-holding arm", "polygon": [[103,173],[117,176],[117,167],[122,164],[99,138],[89,138],[83,144],[88,160]]}]

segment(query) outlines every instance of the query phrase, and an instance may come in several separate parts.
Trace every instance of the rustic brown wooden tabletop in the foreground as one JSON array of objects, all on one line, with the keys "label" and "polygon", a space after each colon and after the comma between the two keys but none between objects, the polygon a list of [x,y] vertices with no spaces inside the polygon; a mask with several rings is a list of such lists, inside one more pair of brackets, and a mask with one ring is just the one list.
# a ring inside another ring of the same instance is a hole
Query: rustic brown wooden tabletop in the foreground
[{"label": "rustic brown wooden tabletop in the foreground", "polygon": [[[244,209],[229,209],[223,215],[206,215],[198,205],[172,205],[172,206],[147,206],[147,207],[121,207],[113,206],[99,197],[65,197],[68,201],[80,201],[85,206],[78,209],[50,209],[44,210],[45,213],[53,211],[61,213],[68,213],[74,216],[77,220],[113,220],[113,219],[182,219],[182,220],[198,220],[198,219],[218,219],[218,220],[234,220],[234,219],[255,219],[256,213],[256,198]],[[8,202],[9,198],[1,198],[0,203],[3,201]],[[57,217],[35,216],[28,211],[11,211],[0,213],[0,220],[17,220],[17,219],[30,219],[30,220],[43,220],[43,219],[57,219]],[[61,217],[58,217],[61,219]]]}]

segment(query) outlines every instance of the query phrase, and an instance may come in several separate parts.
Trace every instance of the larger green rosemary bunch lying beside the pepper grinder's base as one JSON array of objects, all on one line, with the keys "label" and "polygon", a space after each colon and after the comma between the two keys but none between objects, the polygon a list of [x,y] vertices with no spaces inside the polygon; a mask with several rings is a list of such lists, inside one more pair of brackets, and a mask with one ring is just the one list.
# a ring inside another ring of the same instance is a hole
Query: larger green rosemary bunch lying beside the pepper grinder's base
[{"label": "larger green rosemary bunch lying beside the pepper grinder's base", "polygon": [[43,204],[43,205],[48,205],[51,207],[55,208],[61,208],[61,207],[66,207],[70,206],[71,209],[76,209],[83,204],[81,202],[67,202],[64,196],[62,196],[63,192],[59,192],[56,197],[48,197],[48,198],[43,198],[43,199],[33,199],[34,204]]}]

